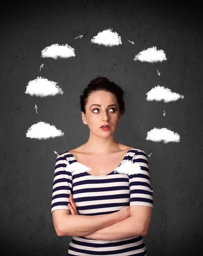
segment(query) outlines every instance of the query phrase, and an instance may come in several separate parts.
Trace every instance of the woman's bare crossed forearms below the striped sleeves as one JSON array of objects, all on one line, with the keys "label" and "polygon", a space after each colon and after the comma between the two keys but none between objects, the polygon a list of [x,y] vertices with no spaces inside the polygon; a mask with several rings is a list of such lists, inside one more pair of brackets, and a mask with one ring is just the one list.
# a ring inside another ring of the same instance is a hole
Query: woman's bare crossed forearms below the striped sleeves
[{"label": "woman's bare crossed forearms below the striped sleeves", "polygon": [[152,220],[152,209],[143,205],[130,206],[131,216],[122,221],[118,218],[118,212],[96,216],[67,215],[57,235],[83,236],[95,240],[120,240],[145,236]]}]

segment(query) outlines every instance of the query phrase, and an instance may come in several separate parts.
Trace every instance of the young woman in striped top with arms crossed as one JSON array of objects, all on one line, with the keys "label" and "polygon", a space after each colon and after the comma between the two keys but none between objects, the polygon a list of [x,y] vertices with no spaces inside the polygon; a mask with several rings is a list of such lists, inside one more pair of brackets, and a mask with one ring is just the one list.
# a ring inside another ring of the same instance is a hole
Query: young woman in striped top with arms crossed
[{"label": "young woman in striped top with arms crossed", "polygon": [[[147,255],[142,236],[152,218],[153,189],[146,153],[114,140],[123,94],[107,78],[92,80],[80,96],[89,140],[57,156],[51,213],[57,235],[72,236],[69,256]],[[132,163],[131,172],[119,171],[125,163]]]}]

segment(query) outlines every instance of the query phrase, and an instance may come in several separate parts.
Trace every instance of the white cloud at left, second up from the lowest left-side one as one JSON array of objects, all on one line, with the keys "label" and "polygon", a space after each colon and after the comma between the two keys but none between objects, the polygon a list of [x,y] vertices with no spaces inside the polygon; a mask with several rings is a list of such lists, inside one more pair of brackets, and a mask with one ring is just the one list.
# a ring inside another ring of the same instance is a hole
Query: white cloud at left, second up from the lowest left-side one
[{"label": "white cloud at left, second up from the lowest left-side one", "polygon": [[29,81],[25,93],[30,96],[46,97],[63,94],[63,90],[57,85],[57,82],[38,76],[37,79]]}]

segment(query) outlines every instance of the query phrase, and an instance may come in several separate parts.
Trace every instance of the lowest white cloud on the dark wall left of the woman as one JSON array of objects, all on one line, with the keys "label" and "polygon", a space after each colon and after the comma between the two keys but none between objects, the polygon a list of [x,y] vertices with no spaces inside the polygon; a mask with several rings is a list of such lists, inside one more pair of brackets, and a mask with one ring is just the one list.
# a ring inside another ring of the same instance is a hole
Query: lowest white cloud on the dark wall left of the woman
[{"label": "lowest white cloud on the dark wall left of the woman", "polygon": [[64,133],[61,130],[46,122],[38,122],[37,124],[31,125],[26,133],[27,138],[38,140],[46,140],[63,135]]}]

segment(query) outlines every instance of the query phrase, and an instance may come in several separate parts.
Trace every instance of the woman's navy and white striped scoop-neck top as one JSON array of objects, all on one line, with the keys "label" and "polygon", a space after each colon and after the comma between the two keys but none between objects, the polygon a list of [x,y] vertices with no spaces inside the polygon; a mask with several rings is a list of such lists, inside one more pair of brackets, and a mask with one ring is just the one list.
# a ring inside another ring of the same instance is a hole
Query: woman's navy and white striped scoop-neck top
[{"label": "woman's navy and white striped scoop-neck top", "polygon": [[[119,172],[124,163],[132,163],[127,174]],[[124,206],[144,205],[153,208],[153,189],[150,183],[149,166],[145,151],[131,148],[120,165],[111,173],[94,176],[86,171],[74,172],[73,163],[78,163],[69,151],[57,156],[54,172],[51,214],[57,209],[69,209],[72,194],[79,215],[100,215],[117,212]],[[73,236],[69,244],[69,256],[146,256],[142,236],[121,240],[94,240]]]}]

